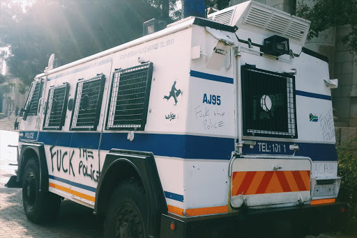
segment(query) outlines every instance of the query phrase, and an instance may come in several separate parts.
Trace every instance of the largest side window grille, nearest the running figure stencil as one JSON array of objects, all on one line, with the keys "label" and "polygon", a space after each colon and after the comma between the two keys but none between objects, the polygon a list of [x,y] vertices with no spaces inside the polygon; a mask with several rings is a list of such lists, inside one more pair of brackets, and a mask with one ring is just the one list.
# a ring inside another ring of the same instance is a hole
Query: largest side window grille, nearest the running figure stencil
[{"label": "largest side window grille, nearest the running figure stencil", "polygon": [[113,73],[106,129],[144,130],[153,63]]}]

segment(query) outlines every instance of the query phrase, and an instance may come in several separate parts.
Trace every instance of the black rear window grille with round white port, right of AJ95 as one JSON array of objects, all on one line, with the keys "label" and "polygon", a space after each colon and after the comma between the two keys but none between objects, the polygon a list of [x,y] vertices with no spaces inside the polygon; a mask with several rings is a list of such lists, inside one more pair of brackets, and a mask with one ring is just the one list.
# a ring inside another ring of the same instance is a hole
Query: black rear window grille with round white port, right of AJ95
[{"label": "black rear window grille with round white port, right of AJ95", "polygon": [[297,138],[295,77],[242,66],[243,134]]}]

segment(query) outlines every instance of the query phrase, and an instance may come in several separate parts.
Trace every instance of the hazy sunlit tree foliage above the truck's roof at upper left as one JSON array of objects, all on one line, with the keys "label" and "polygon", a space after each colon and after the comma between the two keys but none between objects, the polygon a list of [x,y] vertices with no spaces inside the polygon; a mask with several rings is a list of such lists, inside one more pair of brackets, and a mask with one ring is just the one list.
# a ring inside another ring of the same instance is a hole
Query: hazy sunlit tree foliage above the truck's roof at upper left
[{"label": "hazy sunlit tree foliage above the truck's roof at upper left", "polygon": [[[162,0],[163,1],[163,0]],[[13,77],[29,85],[52,53],[61,64],[96,54],[142,36],[143,22],[160,15],[147,0],[33,1],[0,3],[0,47]]]}]

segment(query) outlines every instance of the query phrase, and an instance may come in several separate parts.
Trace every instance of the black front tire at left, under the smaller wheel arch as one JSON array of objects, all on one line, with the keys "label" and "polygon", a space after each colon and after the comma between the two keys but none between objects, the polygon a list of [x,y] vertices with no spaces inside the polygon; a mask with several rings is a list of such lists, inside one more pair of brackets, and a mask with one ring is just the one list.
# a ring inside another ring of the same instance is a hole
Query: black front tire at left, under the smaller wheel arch
[{"label": "black front tire at left, under the smaller wheel arch", "polygon": [[27,161],[22,177],[22,203],[27,219],[33,223],[52,221],[59,214],[61,197],[40,191],[40,166],[37,158]]}]

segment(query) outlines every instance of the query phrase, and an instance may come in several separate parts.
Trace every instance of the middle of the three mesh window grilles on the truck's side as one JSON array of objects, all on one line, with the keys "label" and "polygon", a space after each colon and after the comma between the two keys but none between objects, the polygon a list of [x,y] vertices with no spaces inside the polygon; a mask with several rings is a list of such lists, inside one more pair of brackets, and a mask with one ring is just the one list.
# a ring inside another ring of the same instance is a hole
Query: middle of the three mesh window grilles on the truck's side
[{"label": "middle of the three mesh window grilles on the truck's side", "polygon": [[71,130],[96,130],[99,122],[105,75],[77,83]]}]

